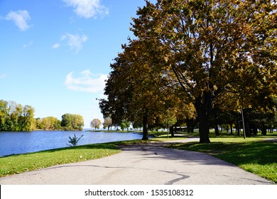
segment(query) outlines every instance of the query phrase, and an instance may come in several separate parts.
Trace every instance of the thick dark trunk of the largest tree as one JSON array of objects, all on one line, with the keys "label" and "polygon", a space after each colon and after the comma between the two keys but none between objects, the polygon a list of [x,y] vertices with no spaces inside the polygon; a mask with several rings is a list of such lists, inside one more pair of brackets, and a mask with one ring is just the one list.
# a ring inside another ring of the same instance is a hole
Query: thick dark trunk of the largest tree
[{"label": "thick dark trunk of the largest tree", "polygon": [[195,109],[197,112],[197,117],[199,119],[200,143],[210,143],[209,116],[211,107],[212,98],[210,96],[210,92],[205,92],[203,94],[203,97],[200,96],[195,99]]}]

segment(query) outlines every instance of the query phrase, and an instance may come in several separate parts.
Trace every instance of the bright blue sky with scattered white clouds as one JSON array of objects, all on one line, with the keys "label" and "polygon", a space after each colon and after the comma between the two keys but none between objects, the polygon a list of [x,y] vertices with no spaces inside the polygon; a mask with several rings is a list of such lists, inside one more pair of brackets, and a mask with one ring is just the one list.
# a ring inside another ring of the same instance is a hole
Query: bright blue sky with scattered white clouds
[{"label": "bright blue sky with scattered white clouds", "polygon": [[144,0],[0,0],[0,99],[103,121],[96,98]]}]

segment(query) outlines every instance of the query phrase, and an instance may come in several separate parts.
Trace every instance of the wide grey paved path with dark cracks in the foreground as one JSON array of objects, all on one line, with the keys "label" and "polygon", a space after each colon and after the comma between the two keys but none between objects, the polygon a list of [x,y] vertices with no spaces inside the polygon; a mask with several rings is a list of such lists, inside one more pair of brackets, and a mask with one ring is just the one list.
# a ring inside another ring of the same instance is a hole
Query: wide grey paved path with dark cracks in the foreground
[{"label": "wide grey paved path with dark cracks in the foreground", "polygon": [[121,150],[120,154],[97,160],[7,176],[0,178],[0,184],[271,184],[218,158],[193,151],[167,149],[161,143],[121,146]]}]

